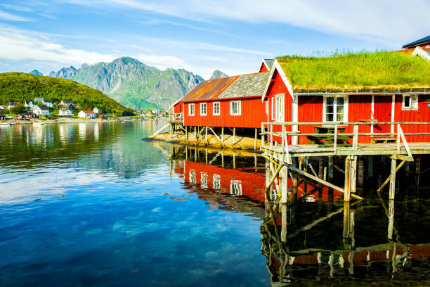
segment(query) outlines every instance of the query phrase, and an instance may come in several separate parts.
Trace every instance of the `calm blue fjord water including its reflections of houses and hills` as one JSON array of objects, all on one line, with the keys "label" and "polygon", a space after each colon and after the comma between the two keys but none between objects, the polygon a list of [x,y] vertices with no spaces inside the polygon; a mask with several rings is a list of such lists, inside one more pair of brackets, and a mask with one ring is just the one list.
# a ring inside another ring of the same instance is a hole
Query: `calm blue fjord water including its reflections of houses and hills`
[{"label": "calm blue fjord water including its reflections of houses and hills", "polygon": [[163,124],[1,127],[0,286],[429,283],[425,184],[351,204],[347,241],[341,195],[310,194],[280,241],[264,160],[141,141]]}]

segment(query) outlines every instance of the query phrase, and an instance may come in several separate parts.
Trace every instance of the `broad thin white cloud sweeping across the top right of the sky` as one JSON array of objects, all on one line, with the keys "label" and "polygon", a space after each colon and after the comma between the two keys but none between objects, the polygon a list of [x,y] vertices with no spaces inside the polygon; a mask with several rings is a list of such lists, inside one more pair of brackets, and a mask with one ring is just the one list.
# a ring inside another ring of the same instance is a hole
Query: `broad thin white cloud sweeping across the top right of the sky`
[{"label": "broad thin white cloud sweeping across the top right of the sky", "polygon": [[[69,0],[74,4],[84,1]],[[178,18],[209,22],[239,20],[282,23],[357,39],[405,42],[429,33],[428,0],[93,0],[91,5],[121,6]]]}]

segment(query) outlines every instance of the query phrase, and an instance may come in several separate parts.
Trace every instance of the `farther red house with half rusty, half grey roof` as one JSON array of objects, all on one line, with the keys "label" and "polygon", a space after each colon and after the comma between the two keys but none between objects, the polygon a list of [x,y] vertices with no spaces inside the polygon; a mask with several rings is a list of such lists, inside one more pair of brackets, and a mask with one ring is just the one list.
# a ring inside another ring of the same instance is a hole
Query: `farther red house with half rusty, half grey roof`
[{"label": "farther red house with half rusty, half grey roof", "polygon": [[261,95],[268,72],[200,82],[174,104],[183,125],[193,127],[260,128],[268,120]]}]

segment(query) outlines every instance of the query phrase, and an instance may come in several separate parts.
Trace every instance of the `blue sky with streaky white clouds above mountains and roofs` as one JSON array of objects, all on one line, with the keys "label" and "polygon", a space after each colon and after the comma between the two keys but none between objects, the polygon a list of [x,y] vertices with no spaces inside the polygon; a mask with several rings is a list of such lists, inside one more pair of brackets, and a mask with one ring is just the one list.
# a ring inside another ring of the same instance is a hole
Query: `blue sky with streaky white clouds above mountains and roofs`
[{"label": "blue sky with streaky white clouds above mountains and roofs", "polygon": [[429,0],[0,0],[0,72],[131,56],[240,75],[263,58],[401,49],[430,34],[429,11]]}]

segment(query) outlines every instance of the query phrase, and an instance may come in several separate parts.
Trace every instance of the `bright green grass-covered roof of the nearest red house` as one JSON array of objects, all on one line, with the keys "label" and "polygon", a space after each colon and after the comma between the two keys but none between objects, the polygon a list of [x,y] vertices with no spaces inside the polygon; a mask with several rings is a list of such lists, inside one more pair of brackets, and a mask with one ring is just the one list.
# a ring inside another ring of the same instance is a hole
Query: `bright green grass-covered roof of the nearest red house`
[{"label": "bright green grass-covered roof of the nearest red house", "polygon": [[362,51],[327,57],[284,56],[277,60],[295,91],[430,88],[430,62],[403,53]]}]

